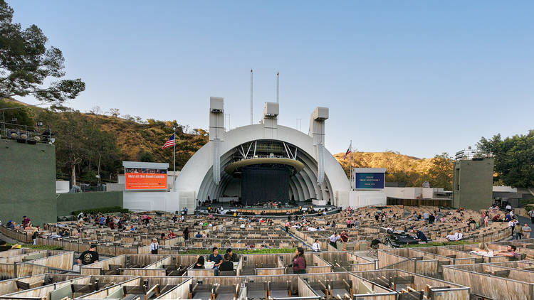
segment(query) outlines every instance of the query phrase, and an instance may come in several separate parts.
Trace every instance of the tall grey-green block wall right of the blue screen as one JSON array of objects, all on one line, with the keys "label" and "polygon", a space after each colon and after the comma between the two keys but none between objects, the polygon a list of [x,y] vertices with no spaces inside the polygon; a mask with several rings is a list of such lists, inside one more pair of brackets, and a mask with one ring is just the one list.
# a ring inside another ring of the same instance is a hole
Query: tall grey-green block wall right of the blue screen
[{"label": "tall grey-green block wall right of the blue screen", "polygon": [[493,203],[493,159],[454,163],[453,199],[456,208],[488,208]]}]

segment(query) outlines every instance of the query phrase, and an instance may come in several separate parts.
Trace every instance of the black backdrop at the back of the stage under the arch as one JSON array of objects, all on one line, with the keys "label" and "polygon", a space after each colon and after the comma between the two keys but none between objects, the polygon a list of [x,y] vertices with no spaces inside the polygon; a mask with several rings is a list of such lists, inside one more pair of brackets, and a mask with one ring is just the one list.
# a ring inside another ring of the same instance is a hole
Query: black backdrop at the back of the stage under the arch
[{"label": "black backdrop at the back of the stage under the arch", "polygon": [[249,166],[241,173],[241,203],[254,205],[268,201],[286,202],[289,198],[289,170]]}]

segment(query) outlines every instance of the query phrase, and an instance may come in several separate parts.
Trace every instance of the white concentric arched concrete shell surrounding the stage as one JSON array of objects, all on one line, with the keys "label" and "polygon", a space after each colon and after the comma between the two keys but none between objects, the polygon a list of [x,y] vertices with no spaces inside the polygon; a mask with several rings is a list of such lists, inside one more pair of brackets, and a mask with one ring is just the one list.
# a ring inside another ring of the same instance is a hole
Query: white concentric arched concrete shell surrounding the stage
[{"label": "white concentric arched concrete shell surrounding the stage", "polygon": [[226,164],[231,162],[236,147],[256,140],[282,141],[298,148],[297,159],[305,165],[305,168],[290,178],[290,198],[295,200],[308,200],[310,198],[329,201],[332,205],[339,205],[336,197],[338,192],[350,191],[350,183],[345,171],[332,154],[325,149],[325,181],[318,184],[318,163],[316,159],[313,137],[290,127],[276,125],[274,130],[266,130],[264,124],[253,124],[232,129],[224,132],[224,140],[220,141],[219,151],[221,162],[221,182],[216,184],[213,179],[213,156],[210,141],[195,153],[182,171],[177,176],[176,191],[194,192],[195,202],[206,200],[208,195],[211,199],[224,195],[229,185],[234,184],[236,179],[224,172]]}]

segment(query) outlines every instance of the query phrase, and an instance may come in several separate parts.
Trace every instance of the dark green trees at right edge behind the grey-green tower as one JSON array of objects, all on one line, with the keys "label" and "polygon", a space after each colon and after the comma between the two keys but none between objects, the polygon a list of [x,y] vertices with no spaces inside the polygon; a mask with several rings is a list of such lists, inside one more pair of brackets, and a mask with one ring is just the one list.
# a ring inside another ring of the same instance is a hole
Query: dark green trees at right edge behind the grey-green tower
[{"label": "dark green trees at right edge behind the grey-green tower", "polygon": [[506,139],[501,139],[501,134],[482,137],[478,149],[495,156],[497,176],[493,181],[518,188],[534,186],[534,130]]}]

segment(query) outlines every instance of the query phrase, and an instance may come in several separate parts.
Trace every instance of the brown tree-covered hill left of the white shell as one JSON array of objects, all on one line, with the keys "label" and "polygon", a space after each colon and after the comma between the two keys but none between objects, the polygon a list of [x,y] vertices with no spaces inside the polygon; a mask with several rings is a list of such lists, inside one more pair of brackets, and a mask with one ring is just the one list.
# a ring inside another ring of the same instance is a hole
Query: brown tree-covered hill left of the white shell
[{"label": "brown tree-covered hill left of the white shell", "polygon": [[[51,128],[56,137],[56,176],[69,180],[75,174],[76,181],[97,183],[100,173],[103,182],[110,174],[116,181],[122,173],[122,161],[157,161],[169,163],[172,170],[172,148],[161,147],[177,128],[176,167],[182,169],[187,160],[208,141],[207,132],[190,130],[177,121],[158,121],[130,116],[120,117],[101,112],[79,112],[67,107],[42,109],[30,107],[14,100],[0,101],[1,107],[20,107],[5,111],[6,122],[17,118],[19,125]],[[99,172],[100,168],[100,172]]]}]

